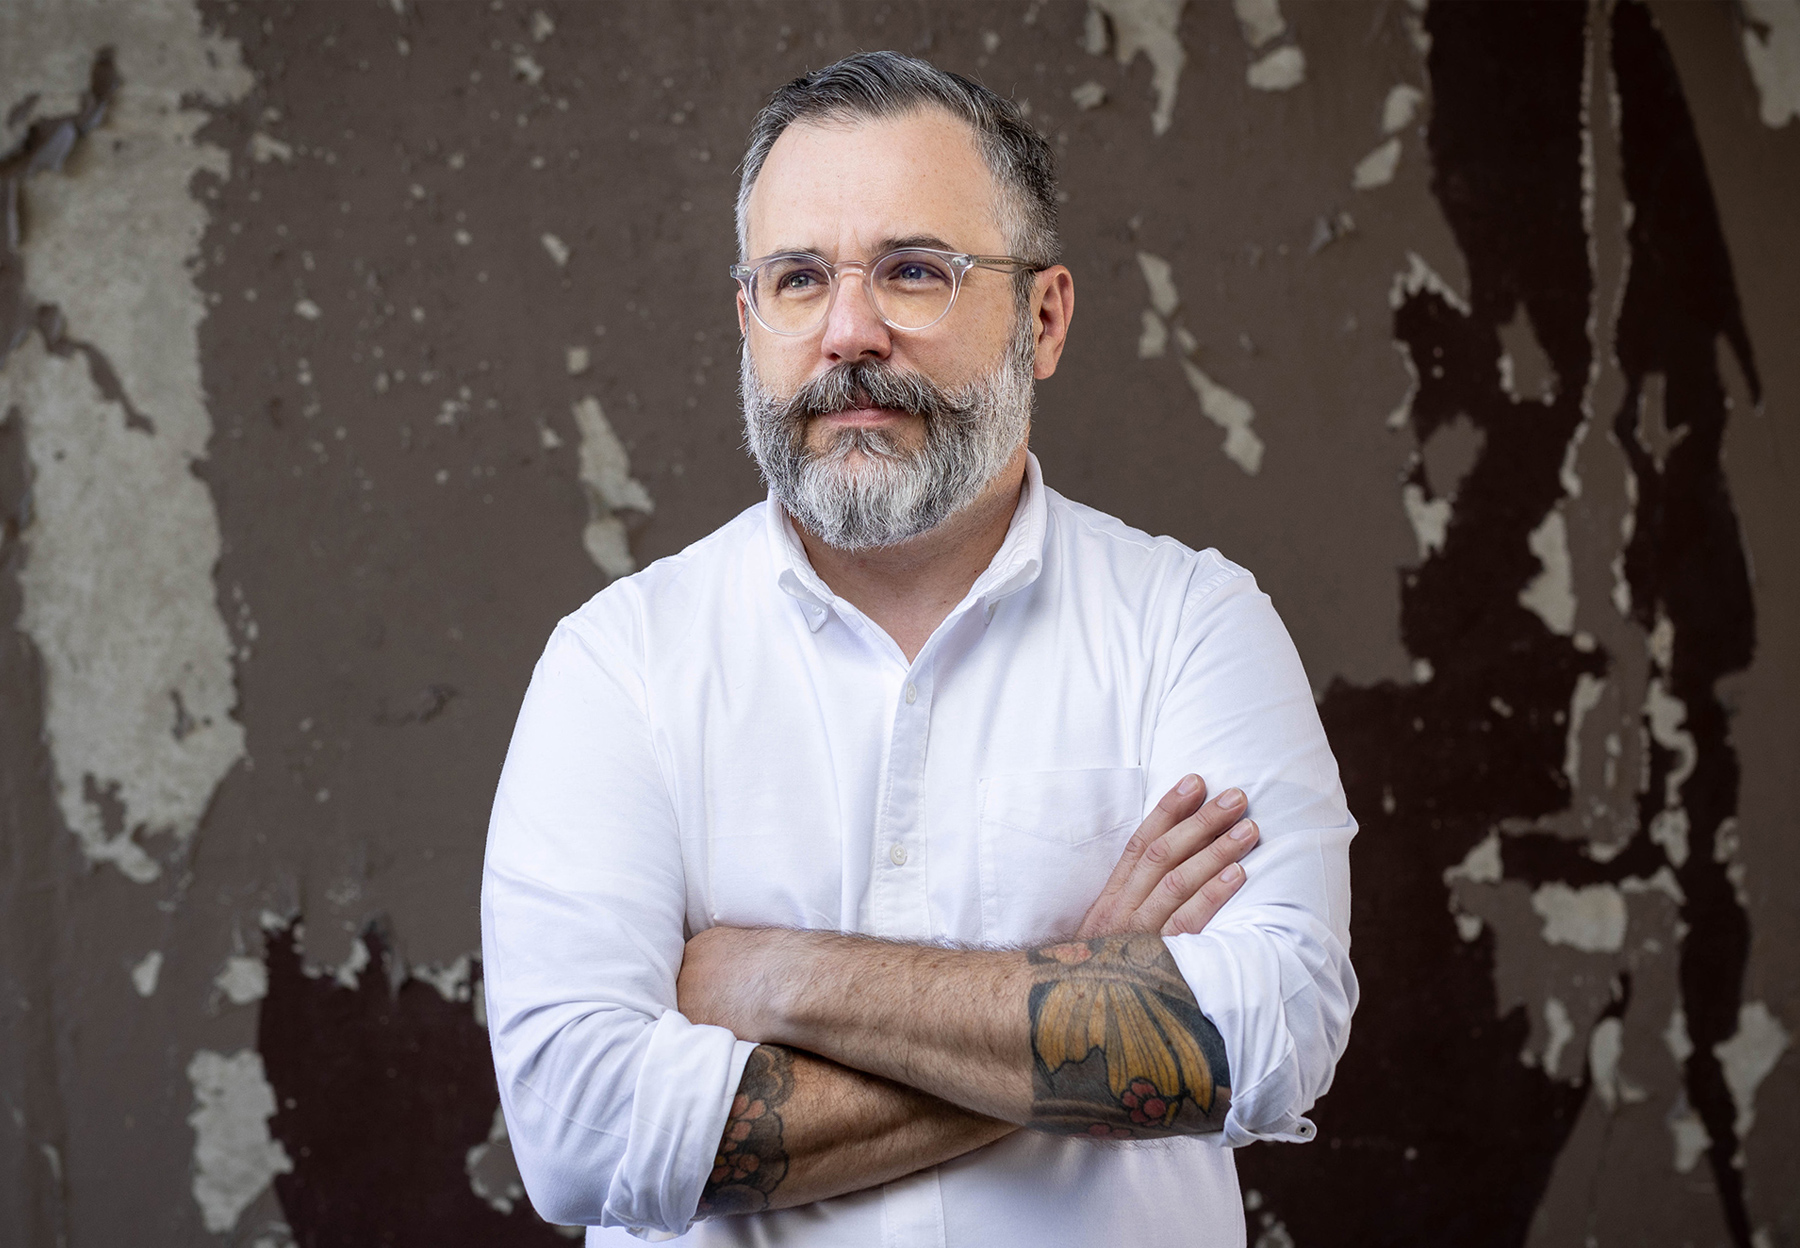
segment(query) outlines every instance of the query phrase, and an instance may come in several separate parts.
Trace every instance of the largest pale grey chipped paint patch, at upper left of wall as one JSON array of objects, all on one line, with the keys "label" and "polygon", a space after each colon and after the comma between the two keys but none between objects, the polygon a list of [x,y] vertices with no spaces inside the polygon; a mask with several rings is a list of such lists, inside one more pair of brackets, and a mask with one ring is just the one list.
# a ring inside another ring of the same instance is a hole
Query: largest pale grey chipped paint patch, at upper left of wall
[{"label": "largest pale grey chipped paint patch, at upper left of wall", "polygon": [[160,864],[139,839],[193,837],[243,758],[212,583],[218,513],[194,474],[212,420],[193,277],[207,213],[189,185],[230,169],[196,137],[211,121],[200,104],[239,99],[252,79],[191,5],[9,13],[0,81],[14,92],[54,92],[43,79],[72,67],[67,49],[119,49],[101,130],[63,173],[22,187],[20,250],[27,299],[110,364],[122,402],[36,335],[0,373],[0,411],[20,409],[32,470],[20,627],[45,668],[58,803],[90,861],[148,882]]}]

